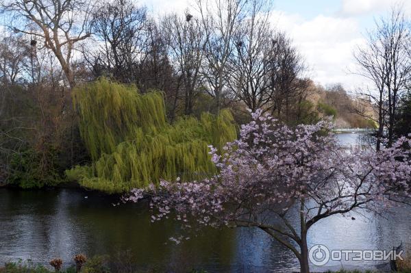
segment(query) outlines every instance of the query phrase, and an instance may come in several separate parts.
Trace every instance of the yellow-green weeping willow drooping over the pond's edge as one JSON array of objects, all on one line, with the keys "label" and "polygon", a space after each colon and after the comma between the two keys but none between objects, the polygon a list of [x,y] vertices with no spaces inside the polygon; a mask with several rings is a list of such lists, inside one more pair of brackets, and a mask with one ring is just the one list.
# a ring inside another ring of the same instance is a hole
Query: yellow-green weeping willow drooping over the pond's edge
[{"label": "yellow-green weeping willow drooping over the pond's edge", "polygon": [[166,121],[162,92],[139,94],[135,86],[99,79],[73,91],[90,166],[66,173],[84,187],[125,192],[160,179],[201,179],[215,173],[208,145],[221,149],[236,138],[232,114]]}]

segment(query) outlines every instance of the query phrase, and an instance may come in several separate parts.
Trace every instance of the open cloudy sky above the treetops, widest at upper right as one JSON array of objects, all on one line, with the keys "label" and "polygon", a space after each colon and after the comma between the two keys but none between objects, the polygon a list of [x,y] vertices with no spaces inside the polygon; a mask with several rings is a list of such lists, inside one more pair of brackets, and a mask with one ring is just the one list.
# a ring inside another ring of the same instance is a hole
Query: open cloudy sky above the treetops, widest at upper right
[{"label": "open cloudy sky above the treetops, widest at upper right", "polygon": [[[271,23],[292,38],[308,66],[308,76],[323,86],[341,83],[349,92],[365,88],[355,75],[353,51],[364,44],[364,34],[375,19],[393,5],[411,14],[411,0],[273,0]],[[154,12],[179,12],[190,0],[140,0]]]}]

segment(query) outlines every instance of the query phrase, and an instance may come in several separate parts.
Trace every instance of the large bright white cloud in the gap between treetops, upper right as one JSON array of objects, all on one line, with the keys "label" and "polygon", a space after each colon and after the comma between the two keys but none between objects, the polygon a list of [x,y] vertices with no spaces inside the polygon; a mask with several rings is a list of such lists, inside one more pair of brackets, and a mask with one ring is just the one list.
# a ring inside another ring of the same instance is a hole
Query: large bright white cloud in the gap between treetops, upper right
[{"label": "large bright white cloud in the gap between treetops, upper right", "polygon": [[356,18],[319,15],[306,20],[275,11],[271,21],[292,38],[314,81],[322,85],[342,83],[348,89],[362,86],[364,79],[349,73],[355,67],[353,49],[364,42]]}]

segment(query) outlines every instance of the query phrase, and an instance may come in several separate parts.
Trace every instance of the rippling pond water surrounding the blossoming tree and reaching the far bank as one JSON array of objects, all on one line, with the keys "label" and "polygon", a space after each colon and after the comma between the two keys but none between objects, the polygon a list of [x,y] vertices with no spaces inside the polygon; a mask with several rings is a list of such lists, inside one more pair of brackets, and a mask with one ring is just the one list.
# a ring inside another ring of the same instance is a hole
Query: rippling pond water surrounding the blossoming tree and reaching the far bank
[{"label": "rippling pond water surrounding the blossoming tree and reaching the far bank", "polygon": [[[356,134],[340,134],[344,144],[354,144]],[[87,197],[87,198],[86,198]],[[175,272],[205,268],[208,272],[290,272],[298,270],[292,252],[258,229],[203,229],[196,237],[175,245],[169,237],[180,233],[172,221],[149,221],[145,204],[113,207],[115,198],[95,192],[60,189],[21,191],[0,189],[0,263],[32,259],[47,264],[61,257],[108,254],[125,256],[141,267],[157,265]],[[315,224],[308,244],[330,249],[390,250],[411,242],[411,209],[397,208],[384,218],[371,214],[336,216]],[[349,261],[345,268],[373,268],[370,261]],[[315,271],[338,269],[312,267]]]}]

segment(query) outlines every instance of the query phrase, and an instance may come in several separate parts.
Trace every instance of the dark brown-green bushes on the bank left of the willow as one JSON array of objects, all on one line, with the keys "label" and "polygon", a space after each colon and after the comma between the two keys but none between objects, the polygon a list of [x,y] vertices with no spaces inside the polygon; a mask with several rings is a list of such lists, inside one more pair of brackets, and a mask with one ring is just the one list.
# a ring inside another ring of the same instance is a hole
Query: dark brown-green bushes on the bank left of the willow
[{"label": "dark brown-green bushes on the bank left of the willow", "polygon": [[64,170],[88,160],[67,106],[68,90],[47,82],[2,88],[0,183],[25,189],[53,186],[64,181]]}]

